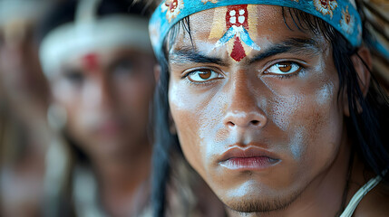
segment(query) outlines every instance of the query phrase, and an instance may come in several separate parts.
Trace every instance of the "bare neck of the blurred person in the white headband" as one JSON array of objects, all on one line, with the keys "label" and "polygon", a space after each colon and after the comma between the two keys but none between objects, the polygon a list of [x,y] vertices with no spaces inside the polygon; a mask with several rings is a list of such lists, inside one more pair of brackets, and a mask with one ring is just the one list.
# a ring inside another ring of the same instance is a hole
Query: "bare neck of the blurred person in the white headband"
[{"label": "bare neck of the blurred person in the white headband", "polygon": [[[101,201],[112,216],[126,216],[145,203],[149,189],[151,170],[151,145],[128,155],[93,159],[92,166],[97,174]],[[134,153],[135,152],[135,153]],[[142,195],[138,195],[139,192]]]}]

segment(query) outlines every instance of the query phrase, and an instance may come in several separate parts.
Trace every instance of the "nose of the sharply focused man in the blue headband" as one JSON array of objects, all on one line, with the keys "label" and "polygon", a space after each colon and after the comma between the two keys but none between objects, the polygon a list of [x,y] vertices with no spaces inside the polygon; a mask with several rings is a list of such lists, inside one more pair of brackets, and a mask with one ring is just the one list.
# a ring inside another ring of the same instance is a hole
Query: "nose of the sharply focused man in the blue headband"
[{"label": "nose of the sharply focused man in the blue headband", "polygon": [[227,127],[261,128],[267,124],[267,116],[258,104],[257,94],[249,80],[236,81],[229,92],[231,99],[224,118]]}]

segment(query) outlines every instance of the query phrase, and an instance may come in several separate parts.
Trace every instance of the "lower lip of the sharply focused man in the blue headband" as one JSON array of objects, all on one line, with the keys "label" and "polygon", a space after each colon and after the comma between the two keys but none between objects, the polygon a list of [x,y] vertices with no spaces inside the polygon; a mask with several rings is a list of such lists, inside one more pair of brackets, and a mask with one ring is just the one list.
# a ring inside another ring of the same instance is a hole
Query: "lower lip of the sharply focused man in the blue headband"
[{"label": "lower lip of the sharply focused man in the blue headband", "polygon": [[253,156],[233,157],[219,164],[230,170],[264,170],[278,162],[279,160],[267,156]]}]

